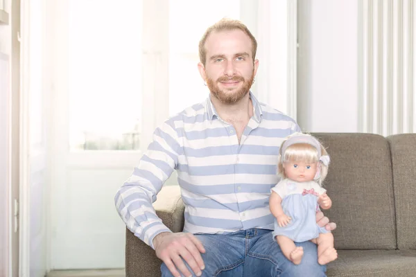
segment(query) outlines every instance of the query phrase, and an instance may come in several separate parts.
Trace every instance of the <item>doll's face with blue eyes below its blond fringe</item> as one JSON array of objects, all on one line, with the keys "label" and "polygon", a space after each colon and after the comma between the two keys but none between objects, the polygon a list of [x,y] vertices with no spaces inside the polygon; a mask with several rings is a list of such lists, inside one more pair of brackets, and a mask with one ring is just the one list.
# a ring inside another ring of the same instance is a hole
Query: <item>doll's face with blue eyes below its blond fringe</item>
[{"label": "doll's face with blue eyes below its blond fringe", "polygon": [[312,181],[318,170],[318,163],[305,163],[303,161],[285,161],[284,173],[288,179],[297,182]]}]

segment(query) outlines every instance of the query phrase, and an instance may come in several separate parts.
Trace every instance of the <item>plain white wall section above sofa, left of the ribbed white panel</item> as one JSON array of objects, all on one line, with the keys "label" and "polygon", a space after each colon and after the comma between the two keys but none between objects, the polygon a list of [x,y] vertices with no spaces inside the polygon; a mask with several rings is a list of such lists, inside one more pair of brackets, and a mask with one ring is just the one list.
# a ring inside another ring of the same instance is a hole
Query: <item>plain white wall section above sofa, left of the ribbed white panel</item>
[{"label": "plain white wall section above sofa, left of the ribbed white panel", "polygon": [[297,121],[304,132],[358,132],[357,5],[298,1]]}]

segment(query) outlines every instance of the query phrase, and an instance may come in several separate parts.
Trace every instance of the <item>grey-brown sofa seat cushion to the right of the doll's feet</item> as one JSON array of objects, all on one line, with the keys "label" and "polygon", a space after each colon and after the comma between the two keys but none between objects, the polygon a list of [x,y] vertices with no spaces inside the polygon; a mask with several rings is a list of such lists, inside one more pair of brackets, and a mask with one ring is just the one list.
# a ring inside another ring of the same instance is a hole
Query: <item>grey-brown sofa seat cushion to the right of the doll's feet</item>
[{"label": "grey-brown sofa seat cushion to the right of the doll's feet", "polygon": [[416,251],[340,250],[327,266],[328,277],[414,277]]}]

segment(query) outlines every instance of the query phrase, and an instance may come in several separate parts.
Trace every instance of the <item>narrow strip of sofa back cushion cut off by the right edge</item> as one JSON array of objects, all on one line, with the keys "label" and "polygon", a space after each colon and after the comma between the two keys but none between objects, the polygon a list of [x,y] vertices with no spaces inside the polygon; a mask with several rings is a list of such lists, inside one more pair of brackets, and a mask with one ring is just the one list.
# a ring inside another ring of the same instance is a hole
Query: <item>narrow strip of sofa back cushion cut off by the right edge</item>
[{"label": "narrow strip of sofa back cushion cut off by the right edge", "polygon": [[395,190],[397,247],[416,249],[416,134],[388,136]]}]

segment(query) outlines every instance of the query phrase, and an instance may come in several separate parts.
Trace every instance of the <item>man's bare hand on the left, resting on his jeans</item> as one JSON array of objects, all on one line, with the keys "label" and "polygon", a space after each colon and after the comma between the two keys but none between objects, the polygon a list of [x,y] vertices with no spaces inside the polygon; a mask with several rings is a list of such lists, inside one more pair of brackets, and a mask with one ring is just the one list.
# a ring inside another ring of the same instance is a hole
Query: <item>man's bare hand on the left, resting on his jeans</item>
[{"label": "man's bare hand on the left, resting on his jeans", "polygon": [[173,276],[180,277],[179,269],[184,276],[192,276],[181,257],[187,262],[196,276],[201,276],[201,270],[205,269],[204,261],[200,253],[205,253],[205,248],[191,233],[159,233],[153,239],[156,256],[162,260]]}]

